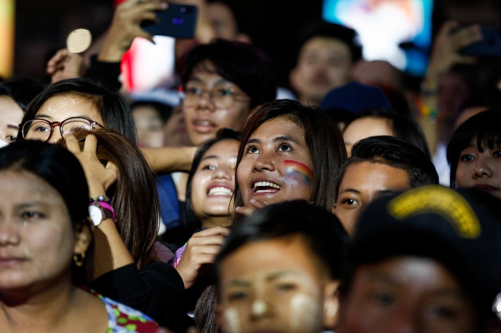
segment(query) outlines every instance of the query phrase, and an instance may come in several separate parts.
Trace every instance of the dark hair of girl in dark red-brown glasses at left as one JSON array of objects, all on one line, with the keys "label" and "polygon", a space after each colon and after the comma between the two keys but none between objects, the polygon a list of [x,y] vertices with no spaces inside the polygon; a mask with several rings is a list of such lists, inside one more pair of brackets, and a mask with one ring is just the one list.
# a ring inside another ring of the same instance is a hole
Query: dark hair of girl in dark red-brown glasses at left
[{"label": "dark hair of girl in dark red-brown glasses at left", "polygon": [[[101,115],[102,125],[136,142],[134,118],[125,97],[86,78],[68,78],[49,85],[28,105],[22,123],[35,118],[49,98],[59,95],[74,95],[88,100]],[[22,138],[20,128],[18,139]]]}]

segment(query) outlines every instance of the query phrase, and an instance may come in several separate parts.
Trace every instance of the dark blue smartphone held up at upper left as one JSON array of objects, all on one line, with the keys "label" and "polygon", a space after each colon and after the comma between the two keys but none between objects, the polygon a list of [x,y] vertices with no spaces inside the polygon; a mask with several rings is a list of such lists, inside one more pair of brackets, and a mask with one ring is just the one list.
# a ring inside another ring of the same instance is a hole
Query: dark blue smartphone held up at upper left
[{"label": "dark blue smartphone held up at upper left", "polygon": [[157,22],[143,21],[141,26],[152,35],[191,38],[195,35],[197,7],[169,3],[165,10],[156,12]]}]

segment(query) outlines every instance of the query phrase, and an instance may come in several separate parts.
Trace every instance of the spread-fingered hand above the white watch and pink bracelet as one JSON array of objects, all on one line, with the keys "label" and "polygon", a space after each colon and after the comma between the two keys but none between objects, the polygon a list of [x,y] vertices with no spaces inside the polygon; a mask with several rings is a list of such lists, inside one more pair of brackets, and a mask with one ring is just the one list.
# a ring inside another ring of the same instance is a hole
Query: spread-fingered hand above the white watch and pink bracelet
[{"label": "spread-fingered hand above the white watch and pink bracelet", "polygon": [[106,190],[117,179],[117,168],[112,162],[108,162],[104,166],[97,158],[96,136],[88,134],[85,137],[83,150],[80,150],[78,140],[72,132],[65,133],[63,137],[66,141],[66,147],[77,157],[84,169],[85,178],[89,185],[89,197],[105,195]]}]

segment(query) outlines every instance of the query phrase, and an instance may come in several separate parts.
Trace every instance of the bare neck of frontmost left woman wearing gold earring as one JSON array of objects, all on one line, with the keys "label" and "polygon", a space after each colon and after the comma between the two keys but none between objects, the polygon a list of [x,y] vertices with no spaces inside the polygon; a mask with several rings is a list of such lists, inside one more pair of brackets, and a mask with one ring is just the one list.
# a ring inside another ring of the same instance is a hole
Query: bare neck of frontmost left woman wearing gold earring
[{"label": "bare neck of frontmost left woman wearing gold earring", "polygon": [[[68,274],[69,275],[69,274]],[[69,314],[77,287],[71,277],[42,287],[0,290],[0,331],[54,331],[55,324]]]}]

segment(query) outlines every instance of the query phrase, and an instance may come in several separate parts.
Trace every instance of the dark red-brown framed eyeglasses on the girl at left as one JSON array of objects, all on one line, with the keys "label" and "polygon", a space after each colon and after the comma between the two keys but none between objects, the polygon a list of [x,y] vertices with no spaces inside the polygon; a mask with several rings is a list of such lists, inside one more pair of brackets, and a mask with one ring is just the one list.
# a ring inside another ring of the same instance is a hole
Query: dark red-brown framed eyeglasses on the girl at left
[{"label": "dark red-brown framed eyeglasses on the girl at left", "polygon": [[103,127],[99,122],[84,117],[71,117],[63,121],[52,122],[42,118],[35,118],[19,124],[25,139],[40,140],[44,142],[52,137],[54,126],[56,125],[59,126],[61,136],[77,128],[92,130],[95,125]]}]

